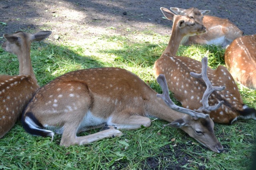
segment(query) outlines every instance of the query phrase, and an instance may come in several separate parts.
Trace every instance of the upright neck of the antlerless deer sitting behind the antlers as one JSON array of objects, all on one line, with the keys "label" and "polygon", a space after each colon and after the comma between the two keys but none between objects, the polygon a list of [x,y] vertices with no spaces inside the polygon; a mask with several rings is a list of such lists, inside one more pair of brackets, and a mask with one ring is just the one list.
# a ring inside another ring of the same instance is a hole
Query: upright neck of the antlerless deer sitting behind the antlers
[{"label": "upright neck of the antlerless deer sitting behind the antlers", "polygon": [[179,31],[179,28],[172,27],[172,34],[171,34],[171,37],[170,37],[170,41],[169,41],[166,49],[164,50],[163,54],[170,54],[170,55],[176,56],[176,53],[177,53],[177,51],[179,49],[179,46],[180,46],[180,42],[182,41],[183,37],[184,36]]}]

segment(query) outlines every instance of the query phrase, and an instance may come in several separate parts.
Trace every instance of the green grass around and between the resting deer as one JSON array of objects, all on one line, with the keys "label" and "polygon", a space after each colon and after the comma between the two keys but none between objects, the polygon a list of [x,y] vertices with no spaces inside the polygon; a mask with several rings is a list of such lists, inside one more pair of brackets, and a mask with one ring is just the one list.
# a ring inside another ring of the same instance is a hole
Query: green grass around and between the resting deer
[{"label": "green grass around and between the resting deer", "polygon": [[[91,37],[80,41],[45,41],[32,44],[31,59],[40,86],[66,72],[92,67],[117,66],[140,76],[154,90],[160,87],[152,74],[169,37],[152,32],[130,36]],[[209,65],[224,65],[224,50],[216,46],[181,46],[178,55],[197,60],[207,56]],[[0,73],[18,74],[16,56],[0,49]],[[256,107],[256,92],[238,84],[244,103]],[[239,120],[234,125],[215,125],[225,152],[216,154],[182,130],[152,121],[149,128],[122,130],[122,137],[103,139],[84,146],[60,147],[60,135],[34,137],[20,122],[0,139],[0,169],[210,169],[247,170],[255,150],[256,123]],[[81,133],[88,135],[99,129]]]}]

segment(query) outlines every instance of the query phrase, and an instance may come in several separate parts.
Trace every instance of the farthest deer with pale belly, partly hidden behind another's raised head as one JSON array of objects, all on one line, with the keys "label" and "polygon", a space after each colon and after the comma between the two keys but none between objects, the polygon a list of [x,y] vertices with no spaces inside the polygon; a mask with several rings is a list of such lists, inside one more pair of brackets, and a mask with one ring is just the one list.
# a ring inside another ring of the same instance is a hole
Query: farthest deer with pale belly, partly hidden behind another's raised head
[{"label": "farthest deer with pale belly, partly hidden behind another's raised head", "polygon": [[210,10],[199,11],[196,8],[189,8],[187,10],[182,8],[170,9],[174,14],[186,15],[206,27],[206,33],[204,34],[183,37],[182,45],[207,44],[221,45],[223,48],[226,48],[234,39],[243,35],[243,31],[228,19],[205,15]]}]

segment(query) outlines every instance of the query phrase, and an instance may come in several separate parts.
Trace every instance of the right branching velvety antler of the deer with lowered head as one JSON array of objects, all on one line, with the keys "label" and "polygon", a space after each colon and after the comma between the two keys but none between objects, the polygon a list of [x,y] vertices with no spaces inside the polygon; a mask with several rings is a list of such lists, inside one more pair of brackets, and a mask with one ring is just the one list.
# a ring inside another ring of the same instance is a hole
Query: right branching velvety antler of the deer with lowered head
[{"label": "right branching velvety antler of the deer with lowered head", "polygon": [[206,111],[210,112],[213,110],[217,110],[223,103],[224,101],[219,102],[215,106],[209,106],[208,104],[208,98],[214,90],[224,90],[226,87],[218,87],[218,86],[212,86],[210,80],[207,77],[207,66],[208,66],[208,59],[207,57],[202,58],[202,72],[200,74],[190,72],[190,75],[193,76],[194,78],[202,78],[206,84],[206,91],[204,92],[204,95],[202,97],[202,104],[203,106],[198,109],[198,111]]}]

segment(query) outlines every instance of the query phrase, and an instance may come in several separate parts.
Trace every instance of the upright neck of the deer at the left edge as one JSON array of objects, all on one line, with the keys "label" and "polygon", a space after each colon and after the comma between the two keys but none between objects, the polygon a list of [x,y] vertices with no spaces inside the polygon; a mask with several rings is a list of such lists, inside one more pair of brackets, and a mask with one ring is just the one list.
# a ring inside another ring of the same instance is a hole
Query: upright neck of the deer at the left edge
[{"label": "upright neck of the deer at the left edge", "polygon": [[34,82],[37,83],[30,59],[30,45],[21,51],[22,52],[17,55],[19,60],[19,74],[30,75]]}]

